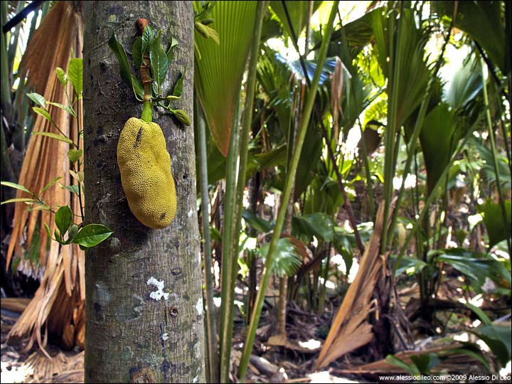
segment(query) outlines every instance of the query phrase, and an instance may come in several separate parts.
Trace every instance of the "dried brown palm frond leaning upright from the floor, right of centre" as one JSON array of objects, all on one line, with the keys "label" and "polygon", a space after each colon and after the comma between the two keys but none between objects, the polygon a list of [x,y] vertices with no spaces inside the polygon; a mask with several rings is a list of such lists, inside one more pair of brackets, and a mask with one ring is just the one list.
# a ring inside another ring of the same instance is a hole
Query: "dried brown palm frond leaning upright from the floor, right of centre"
[{"label": "dried brown palm frond leaning upright from the floor, right of centre", "polygon": [[[394,201],[392,206],[393,204]],[[324,347],[316,361],[316,368],[328,365],[336,358],[366,345],[373,339],[372,326],[367,321],[368,314],[375,311],[375,302],[371,301],[371,297],[388,257],[388,255],[380,255],[379,252],[383,222],[384,204],[381,203],[373,234],[361,258],[356,279],[348,288],[338,309]]]}]

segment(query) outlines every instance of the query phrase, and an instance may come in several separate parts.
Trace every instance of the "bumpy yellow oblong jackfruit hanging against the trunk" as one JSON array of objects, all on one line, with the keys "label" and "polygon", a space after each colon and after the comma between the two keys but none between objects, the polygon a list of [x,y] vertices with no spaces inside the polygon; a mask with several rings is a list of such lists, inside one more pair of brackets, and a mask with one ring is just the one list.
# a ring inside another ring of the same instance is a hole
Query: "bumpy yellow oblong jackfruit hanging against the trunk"
[{"label": "bumpy yellow oblong jackfruit hanging against the trunk", "polygon": [[165,228],[176,215],[176,188],[164,133],[156,123],[128,119],[117,144],[128,205],[146,227]]}]

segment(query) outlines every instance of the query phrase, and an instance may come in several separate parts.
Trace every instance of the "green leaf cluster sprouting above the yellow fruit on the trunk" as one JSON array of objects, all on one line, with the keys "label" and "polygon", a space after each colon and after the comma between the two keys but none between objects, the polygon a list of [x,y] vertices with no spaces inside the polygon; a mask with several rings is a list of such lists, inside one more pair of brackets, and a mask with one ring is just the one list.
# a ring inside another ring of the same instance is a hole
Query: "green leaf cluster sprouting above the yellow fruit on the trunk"
[{"label": "green leaf cluster sprouting above the yellow fruit on the trunk", "polygon": [[[169,48],[164,50],[161,46],[161,31],[154,31],[151,26],[146,26],[142,36],[137,37],[132,46],[132,59],[137,68],[141,68],[142,65],[151,67],[151,102],[157,107],[162,107],[171,112],[171,114],[174,114],[181,123],[190,125],[191,120],[185,111],[171,108],[171,103],[174,100],[181,99],[184,71],[176,80],[172,92],[166,96],[162,95],[162,84],[171,67],[172,60],[174,60],[174,47],[178,45],[178,41],[173,36],[171,36],[170,40]],[[132,88],[137,100],[144,101],[142,81],[132,74],[128,55],[122,44],[117,40],[116,33],[112,33],[108,44],[119,63],[119,74],[122,80]],[[164,102],[167,103],[164,104]]]}]

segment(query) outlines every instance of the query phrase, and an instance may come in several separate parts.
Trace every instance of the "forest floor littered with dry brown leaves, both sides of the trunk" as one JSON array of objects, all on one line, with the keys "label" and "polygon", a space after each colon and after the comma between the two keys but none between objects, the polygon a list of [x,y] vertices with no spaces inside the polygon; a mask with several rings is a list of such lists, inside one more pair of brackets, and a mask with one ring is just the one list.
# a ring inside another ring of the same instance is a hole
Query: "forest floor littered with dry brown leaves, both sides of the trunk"
[{"label": "forest floor littered with dry brown leaves, both sides of the trunk", "polygon": [[[457,279],[448,281],[457,282]],[[416,287],[417,288],[417,287]],[[457,289],[456,285],[445,286],[443,289]],[[447,292],[447,291],[445,291]],[[401,299],[414,297],[414,285],[401,292]],[[400,300],[402,301],[402,300]],[[269,303],[271,304],[271,303]],[[375,350],[378,342],[359,348],[353,353],[331,363],[330,368],[315,370],[314,364],[321,344],[332,317],[338,306],[336,299],[328,300],[323,314],[306,311],[297,304],[288,305],[287,338],[272,335],[276,329],[274,309],[267,306],[262,314],[260,328],[257,330],[254,355],[251,356],[247,382],[252,383],[374,383],[403,382],[400,380],[384,380],[385,374],[404,373],[384,359],[375,362]],[[235,369],[238,368],[245,335],[245,321],[240,314],[235,320],[233,334],[233,371],[231,380],[234,382]],[[46,347],[52,357],[49,360],[41,349],[36,347],[24,351],[26,339],[6,343],[6,337],[19,314],[2,309],[1,311],[1,383],[83,383],[83,351],[64,351],[55,345]],[[425,336],[415,333],[410,354],[439,352],[460,345],[459,342],[472,341],[464,329],[462,319],[468,317],[449,314],[447,327],[451,328],[450,336]],[[471,319],[469,319],[471,320]],[[509,319],[507,320],[509,324]],[[457,332],[457,329],[459,332]],[[456,336],[456,337],[454,337]],[[400,355],[407,359],[410,355]],[[371,364],[370,364],[371,363]],[[438,366],[439,374],[485,375],[478,361],[470,356],[453,356]],[[508,373],[510,375],[510,364]],[[453,380],[454,382],[472,382],[471,380]],[[407,382],[407,381],[406,381]],[[437,381],[443,382],[443,381]]]}]

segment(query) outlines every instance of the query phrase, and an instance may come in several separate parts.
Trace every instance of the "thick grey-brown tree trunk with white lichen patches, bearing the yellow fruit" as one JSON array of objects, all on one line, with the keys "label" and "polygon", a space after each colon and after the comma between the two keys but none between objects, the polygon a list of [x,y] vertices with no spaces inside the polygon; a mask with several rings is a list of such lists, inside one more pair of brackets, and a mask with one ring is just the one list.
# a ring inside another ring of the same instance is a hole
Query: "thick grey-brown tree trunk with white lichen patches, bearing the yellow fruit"
[{"label": "thick grey-brown tree trunk with white lichen patches, bearing the yellow fruit", "polygon": [[[107,44],[115,32],[131,52],[140,17],[162,30],[165,49],[172,34],[179,45],[164,95],[186,70],[183,95],[173,107],[192,118],[193,6],[188,1],[87,1],[84,16],[86,222],[114,231],[86,252],[85,382],[204,382],[193,129],[154,110],[171,154],[178,209],[169,227],[147,228],[129,209],[116,154],[124,123],[141,116],[142,103],[122,82]],[[132,73],[139,77],[134,67]]]}]

